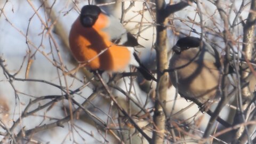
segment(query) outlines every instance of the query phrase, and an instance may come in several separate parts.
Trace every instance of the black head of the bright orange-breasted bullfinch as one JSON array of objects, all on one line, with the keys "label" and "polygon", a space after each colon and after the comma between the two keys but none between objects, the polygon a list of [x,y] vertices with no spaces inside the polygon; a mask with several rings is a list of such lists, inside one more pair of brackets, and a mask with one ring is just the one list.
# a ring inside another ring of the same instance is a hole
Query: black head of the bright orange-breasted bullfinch
[{"label": "black head of the bright orange-breasted bullfinch", "polygon": [[92,27],[101,13],[97,5],[85,5],[80,14],[80,22],[84,27]]}]

